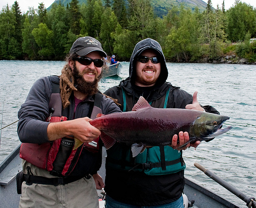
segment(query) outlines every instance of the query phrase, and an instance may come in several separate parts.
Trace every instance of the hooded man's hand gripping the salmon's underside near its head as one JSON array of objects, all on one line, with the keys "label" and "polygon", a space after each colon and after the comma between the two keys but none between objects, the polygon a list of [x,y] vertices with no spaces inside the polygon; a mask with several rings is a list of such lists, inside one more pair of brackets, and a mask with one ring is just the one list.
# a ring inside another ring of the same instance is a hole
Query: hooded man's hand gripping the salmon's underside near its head
[{"label": "hooded man's hand gripping the salmon's underside near its head", "polygon": [[[178,147],[180,147],[181,145],[184,145],[186,142],[189,141],[189,135],[188,133],[185,131],[183,133],[183,131],[179,132],[179,143],[178,143],[178,135],[175,134],[173,136],[173,140],[172,140],[172,148],[177,149]],[[183,147],[181,150],[186,150],[188,147],[195,147],[197,148],[198,145],[200,145],[201,142],[197,141],[195,143],[188,143],[185,147]]]}]

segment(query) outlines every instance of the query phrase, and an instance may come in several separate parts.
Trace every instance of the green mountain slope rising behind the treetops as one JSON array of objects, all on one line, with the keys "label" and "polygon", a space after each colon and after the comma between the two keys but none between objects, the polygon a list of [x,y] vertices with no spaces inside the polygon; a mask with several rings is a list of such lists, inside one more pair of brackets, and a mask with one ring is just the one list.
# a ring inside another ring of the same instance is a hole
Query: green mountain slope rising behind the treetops
[{"label": "green mountain slope rising behind the treetops", "polygon": [[[66,6],[68,3],[70,3],[72,0],[55,0],[53,3],[60,3]],[[87,0],[78,0],[80,4],[87,3]],[[104,2],[104,1],[102,1]],[[111,1],[113,2],[113,1]],[[126,4],[128,4],[127,0],[125,0]],[[154,12],[157,16],[162,17],[168,13],[170,9],[173,7],[178,7],[183,4],[185,9],[191,9],[192,11],[195,10],[196,7],[199,8],[200,12],[203,12],[207,6],[207,4],[202,0],[151,0],[151,5],[154,8]],[[47,8],[49,11],[51,9],[52,5]]]}]

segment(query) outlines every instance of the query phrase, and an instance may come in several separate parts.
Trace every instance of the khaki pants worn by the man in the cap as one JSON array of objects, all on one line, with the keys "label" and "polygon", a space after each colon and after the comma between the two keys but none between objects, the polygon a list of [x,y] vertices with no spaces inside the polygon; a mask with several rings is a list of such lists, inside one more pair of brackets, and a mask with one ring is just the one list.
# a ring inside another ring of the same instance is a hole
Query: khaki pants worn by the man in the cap
[{"label": "khaki pants worn by the man in the cap", "polygon": [[[48,172],[46,170],[41,170],[32,164],[28,164],[27,162],[24,162],[23,165],[29,165],[34,175],[46,177],[46,172]],[[23,167],[23,170],[26,172],[25,166]],[[43,173],[39,174],[41,171]],[[22,196],[20,196],[19,207],[98,208],[99,202],[93,177],[90,179],[81,178],[80,180],[68,183],[65,186],[35,183],[28,186],[24,181],[22,184]]]}]

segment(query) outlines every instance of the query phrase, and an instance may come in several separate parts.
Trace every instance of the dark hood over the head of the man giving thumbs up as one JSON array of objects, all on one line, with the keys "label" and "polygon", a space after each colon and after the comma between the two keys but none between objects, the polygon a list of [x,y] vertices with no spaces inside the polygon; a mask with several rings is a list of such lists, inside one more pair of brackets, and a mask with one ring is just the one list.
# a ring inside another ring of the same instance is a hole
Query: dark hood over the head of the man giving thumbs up
[{"label": "dark hood over the head of the man giving thumbs up", "polygon": [[161,85],[163,85],[163,83],[165,83],[168,77],[168,70],[165,63],[165,58],[163,55],[161,45],[156,40],[153,40],[151,38],[141,40],[135,45],[133,54],[130,59],[130,67],[129,67],[131,84],[134,85],[134,80],[136,76],[136,70],[135,70],[136,57],[139,56],[141,52],[144,51],[145,49],[154,49],[159,53],[159,56],[161,57],[161,73],[160,73],[159,79],[157,80],[157,83],[155,84],[156,87],[160,87]]}]

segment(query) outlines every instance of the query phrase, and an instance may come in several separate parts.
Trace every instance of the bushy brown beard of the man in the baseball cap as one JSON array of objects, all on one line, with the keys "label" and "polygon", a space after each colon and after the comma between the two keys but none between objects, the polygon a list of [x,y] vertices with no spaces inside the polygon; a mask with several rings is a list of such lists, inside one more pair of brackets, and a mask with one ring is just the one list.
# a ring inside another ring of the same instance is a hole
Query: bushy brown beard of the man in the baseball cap
[{"label": "bushy brown beard of the man in the baseball cap", "polygon": [[91,70],[83,70],[82,72],[79,72],[77,70],[76,66],[74,66],[74,70],[73,70],[72,74],[75,78],[75,87],[77,88],[77,90],[85,95],[92,96],[98,92],[98,82],[99,82],[100,78],[102,77],[102,75],[101,74],[98,75],[98,73],[96,71],[96,76],[95,76],[96,78],[94,79],[94,81],[88,82],[88,81],[84,80],[84,78],[83,78],[83,75],[87,71],[91,71]]}]

